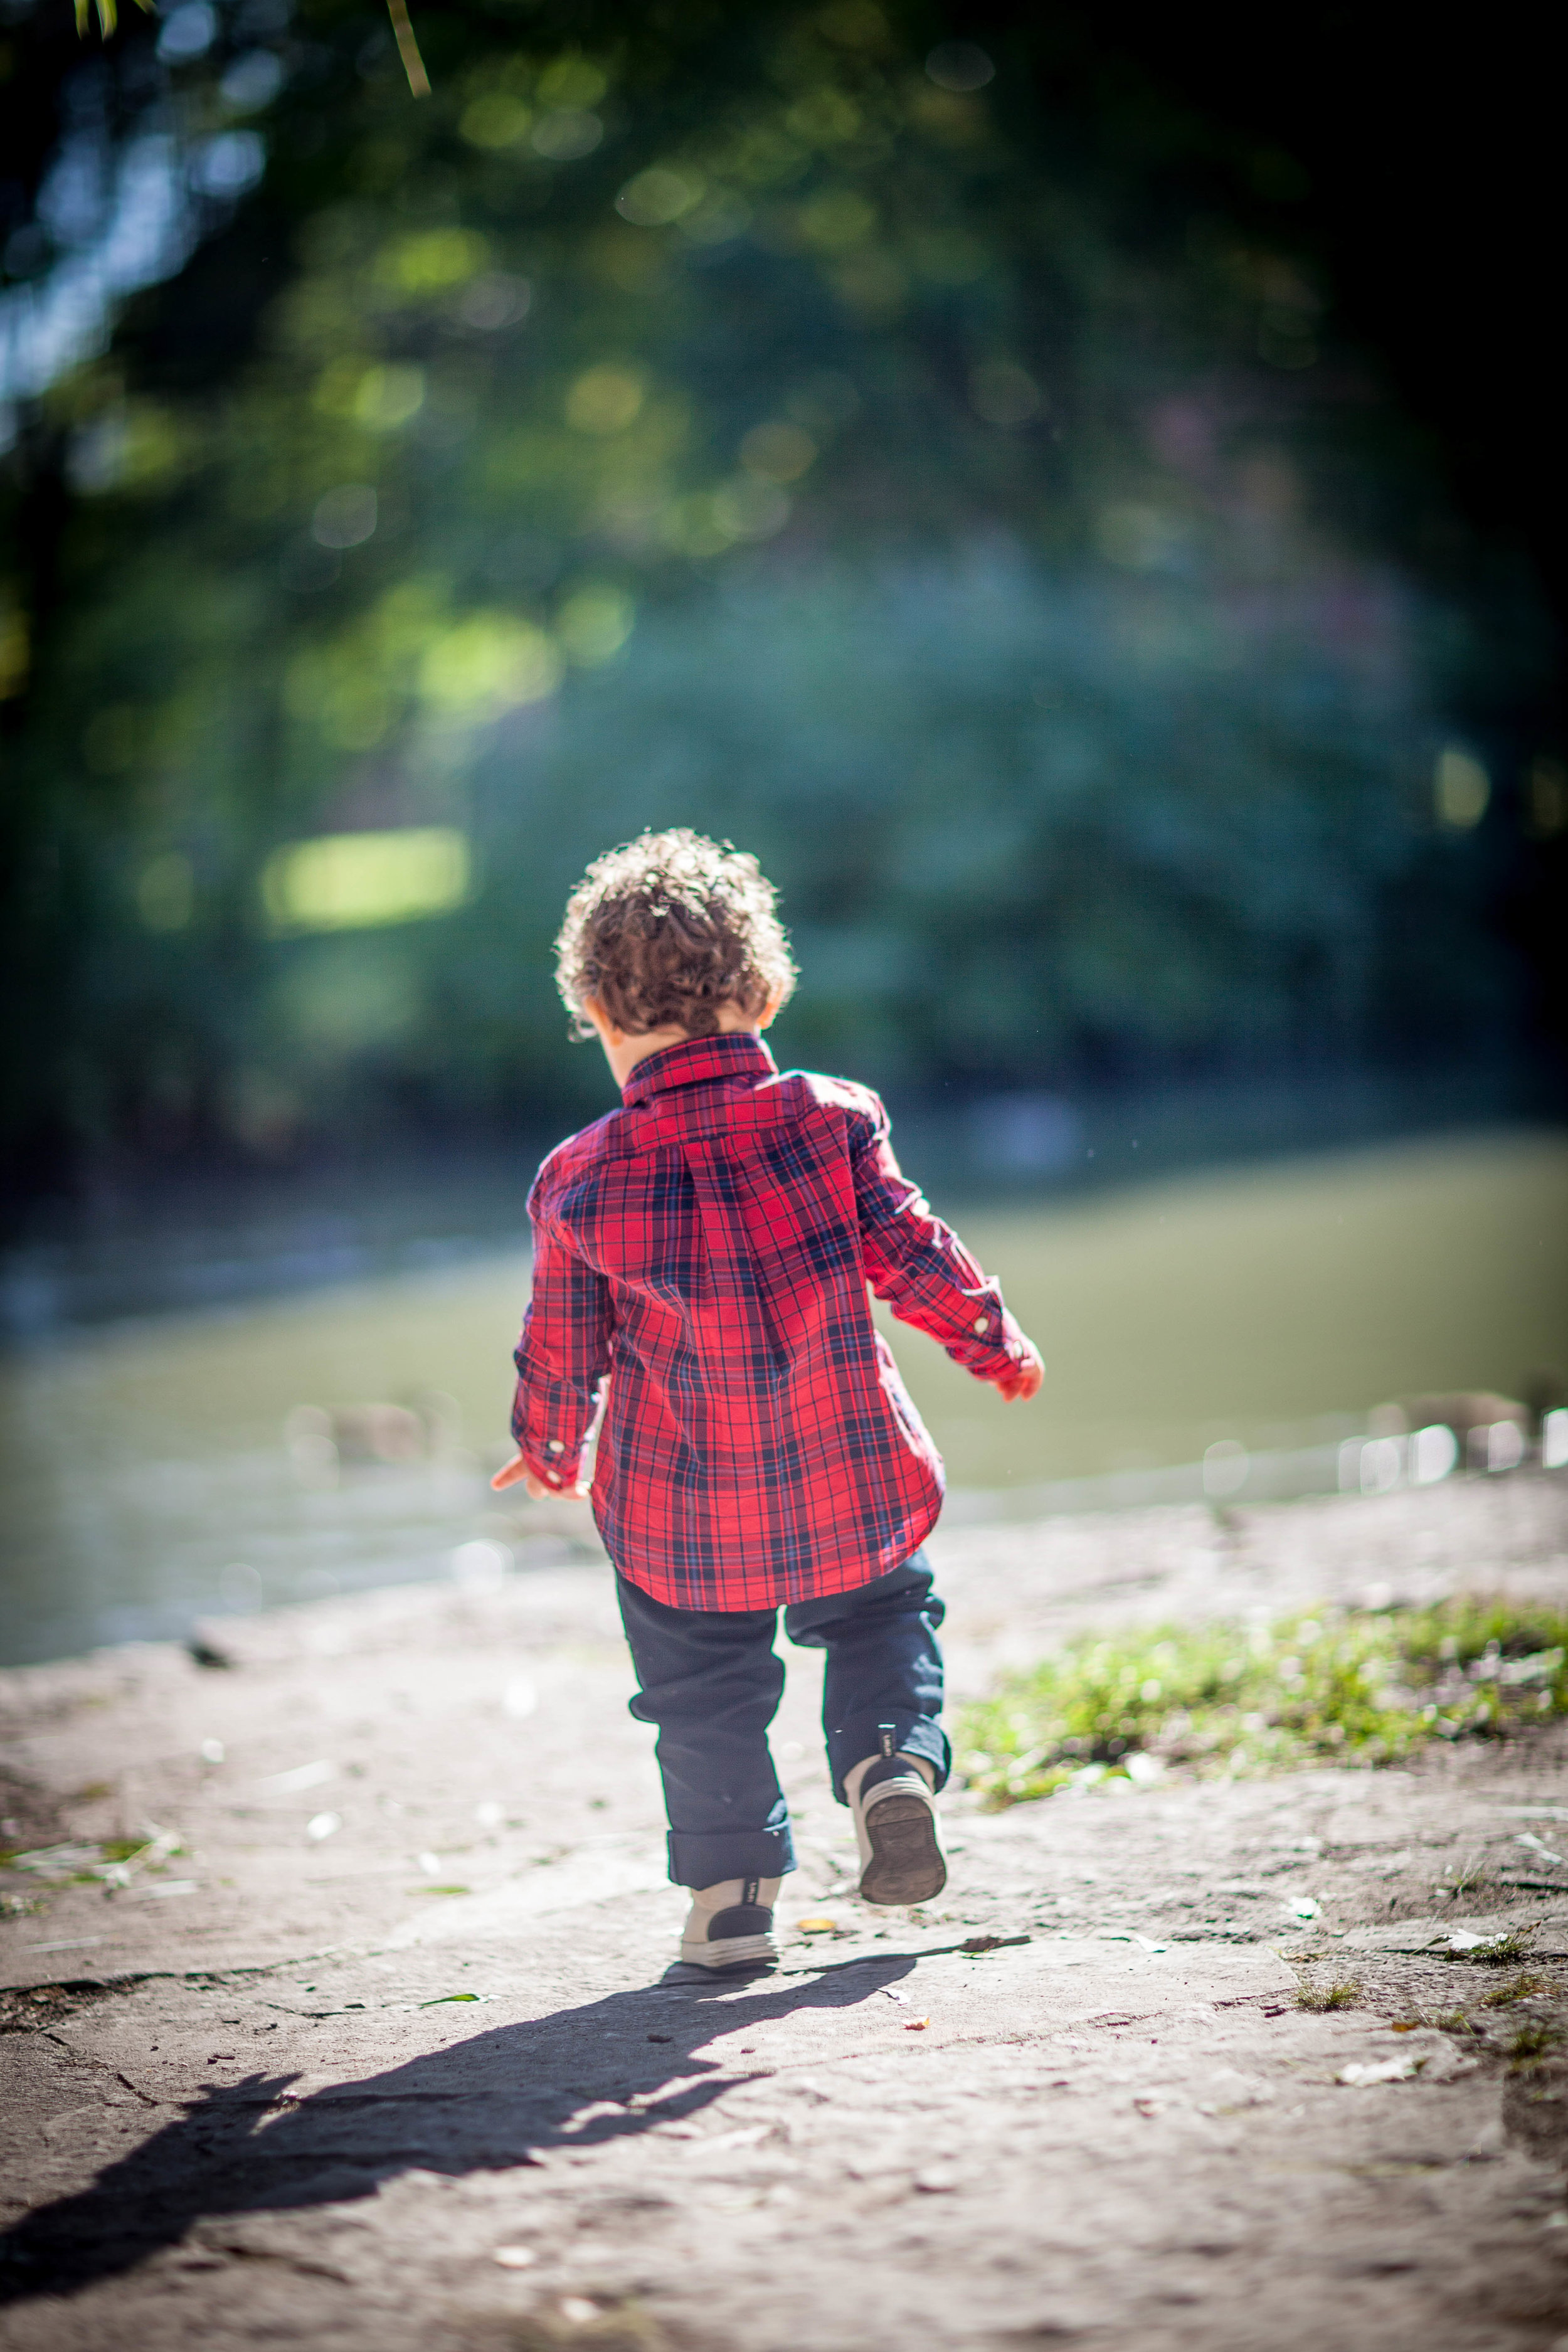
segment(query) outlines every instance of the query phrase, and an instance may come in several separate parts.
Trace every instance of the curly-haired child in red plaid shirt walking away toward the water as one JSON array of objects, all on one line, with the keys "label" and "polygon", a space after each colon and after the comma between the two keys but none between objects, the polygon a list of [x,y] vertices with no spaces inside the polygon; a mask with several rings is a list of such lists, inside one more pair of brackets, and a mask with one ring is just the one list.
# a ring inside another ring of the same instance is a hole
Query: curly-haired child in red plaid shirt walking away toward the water
[{"label": "curly-haired child in red plaid shirt walking away toward the water", "polygon": [[597,858],[557,985],[621,1110],[559,1143],[529,1195],[534,1296],[517,1456],[496,1486],[588,1494],[658,1726],[682,1959],[764,1969],[795,1867],[769,1755],[790,1642],[827,1651],[832,1792],[867,1903],[945,1879],[936,1792],[943,1602],[922,1543],[943,1463],[870,1317],[893,1315],[1004,1397],[1044,1364],[1001,1291],[898,1171],[867,1087],[778,1070],[762,1042],[795,962],[757,861],[686,828]]}]

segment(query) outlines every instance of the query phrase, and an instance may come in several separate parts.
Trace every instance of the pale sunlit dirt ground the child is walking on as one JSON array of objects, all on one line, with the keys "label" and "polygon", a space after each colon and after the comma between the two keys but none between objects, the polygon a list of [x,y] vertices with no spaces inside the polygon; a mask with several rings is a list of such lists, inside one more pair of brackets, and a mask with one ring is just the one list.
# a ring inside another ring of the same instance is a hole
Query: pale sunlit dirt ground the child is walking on
[{"label": "pale sunlit dirt ground the child is walking on", "polygon": [[[973,1693],[1128,1616],[1561,1599],[1568,1479],[936,1550]],[[947,1893],[886,1917],[849,1896],[792,1653],[785,1922],[837,1933],[665,1985],[682,1898],[602,1566],[221,1639],[228,1670],[0,1677],[7,1844],[80,1849],[5,1877],[35,1907],[0,1922],[0,2345],[1568,2343],[1568,2084],[1549,2049],[1509,2067],[1568,2009],[1561,1729],[954,1795]],[[73,1879],[148,1825],[181,1851]],[[1441,1957],[1455,1926],[1528,1962]],[[1354,2006],[1298,2004],[1331,1985]]]}]

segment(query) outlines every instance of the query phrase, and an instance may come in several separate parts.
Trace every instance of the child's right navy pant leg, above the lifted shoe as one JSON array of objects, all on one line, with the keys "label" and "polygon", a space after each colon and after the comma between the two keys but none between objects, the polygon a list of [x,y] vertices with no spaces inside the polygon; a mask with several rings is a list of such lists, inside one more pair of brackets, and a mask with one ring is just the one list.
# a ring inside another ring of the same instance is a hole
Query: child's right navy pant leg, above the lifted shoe
[{"label": "child's right navy pant leg, above the lifted shoe", "polygon": [[936,1646],[947,1611],[931,1583],[926,1555],[914,1552],[870,1585],[785,1609],[790,1642],[827,1651],[823,1731],[839,1804],[846,1804],[844,1773],[877,1755],[882,1724],[893,1726],[896,1750],[933,1766],[938,1788],[947,1778],[952,1750],[938,1722],[943,1653]]}]

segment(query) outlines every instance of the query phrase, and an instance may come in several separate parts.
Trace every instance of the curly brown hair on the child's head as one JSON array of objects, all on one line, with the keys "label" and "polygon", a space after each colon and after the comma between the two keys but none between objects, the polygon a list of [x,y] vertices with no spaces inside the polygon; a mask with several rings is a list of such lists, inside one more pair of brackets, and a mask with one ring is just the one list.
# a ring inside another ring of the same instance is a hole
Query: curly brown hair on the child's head
[{"label": "curly brown hair on the child's head", "polygon": [[555,985],[578,1037],[595,997],[628,1037],[712,1037],[719,1007],[748,1021],[795,988],[795,957],[757,858],[689,826],[639,833],[595,858],[567,901]]}]

